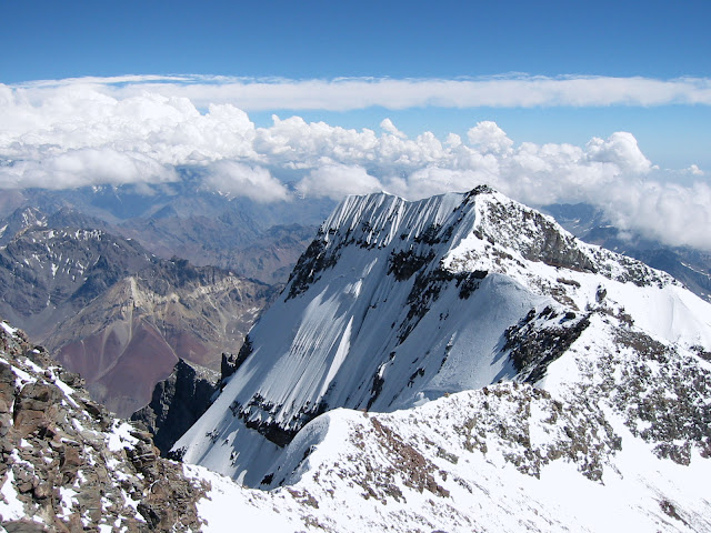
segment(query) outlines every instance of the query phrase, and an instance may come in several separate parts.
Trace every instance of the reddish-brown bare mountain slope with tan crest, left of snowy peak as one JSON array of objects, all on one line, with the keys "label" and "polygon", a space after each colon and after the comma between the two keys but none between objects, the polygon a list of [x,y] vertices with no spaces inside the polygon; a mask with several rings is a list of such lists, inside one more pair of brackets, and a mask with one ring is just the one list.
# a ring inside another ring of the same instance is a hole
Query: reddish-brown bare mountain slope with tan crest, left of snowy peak
[{"label": "reddish-brown bare mountain slope with tan crest, left of snowy peak", "polygon": [[219,369],[237,351],[274,290],[217,269],[170,283],[159,272],[119,281],[47,339],[57,359],[87,380],[92,396],[121,416],[148,404],[179,359]]}]

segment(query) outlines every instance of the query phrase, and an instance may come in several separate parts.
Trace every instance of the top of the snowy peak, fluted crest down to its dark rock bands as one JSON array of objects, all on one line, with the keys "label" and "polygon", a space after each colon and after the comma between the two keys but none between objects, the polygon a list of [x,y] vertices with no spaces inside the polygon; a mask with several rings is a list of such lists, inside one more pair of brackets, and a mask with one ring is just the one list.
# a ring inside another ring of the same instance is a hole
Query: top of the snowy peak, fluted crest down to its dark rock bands
[{"label": "top of the snowy peak, fluted crest down to its dark rock bands", "polygon": [[[551,217],[482,185],[415,202],[388,193],[347,198],[294,269],[290,296],[333,265],[349,245],[387,248],[392,254],[391,273],[399,278],[428,264],[452,274],[503,273],[537,286],[542,285],[540,278],[558,278],[561,269],[638,285],[673,283],[671,276],[639,261],[578,241]],[[552,269],[545,275],[531,262]],[[560,291],[547,293],[555,292]]]}]

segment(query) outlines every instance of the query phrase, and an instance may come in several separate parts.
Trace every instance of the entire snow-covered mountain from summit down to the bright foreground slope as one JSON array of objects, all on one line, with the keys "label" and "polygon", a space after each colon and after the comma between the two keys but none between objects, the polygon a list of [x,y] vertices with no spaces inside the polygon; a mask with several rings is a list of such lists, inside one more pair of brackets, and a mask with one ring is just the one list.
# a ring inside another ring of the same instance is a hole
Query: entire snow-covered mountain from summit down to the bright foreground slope
[{"label": "entire snow-covered mountain from summit down to the bright foreground slope", "polygon": [[705,531],[710,360],[711,305],[489,188],[350,197],[171,454],[327,531]]}]

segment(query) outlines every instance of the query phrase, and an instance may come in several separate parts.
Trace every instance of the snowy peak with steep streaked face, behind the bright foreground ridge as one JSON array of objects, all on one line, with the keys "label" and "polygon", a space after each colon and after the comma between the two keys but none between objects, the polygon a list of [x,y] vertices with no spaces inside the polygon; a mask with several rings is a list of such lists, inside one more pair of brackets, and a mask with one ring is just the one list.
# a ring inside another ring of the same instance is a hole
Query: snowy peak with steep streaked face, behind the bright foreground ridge
[{"label": "snowy peak with steep streaked face, behind the bright foreground ridge", "polygon": [[501,380],[545,385],[582,335],[600,334],[599,318],[672,350],[711,346],[709,305],[669,275],[485,187],[419,202],[350,197],[174,453],[260,485],[328,410],[411,409]]}]

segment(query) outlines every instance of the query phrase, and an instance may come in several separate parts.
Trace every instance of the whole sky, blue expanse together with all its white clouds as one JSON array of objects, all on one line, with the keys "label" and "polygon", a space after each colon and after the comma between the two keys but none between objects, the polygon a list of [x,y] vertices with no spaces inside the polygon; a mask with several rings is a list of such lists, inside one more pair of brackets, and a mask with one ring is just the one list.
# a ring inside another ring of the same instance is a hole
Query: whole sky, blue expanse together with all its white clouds
[{"label": "whole sky, blue expanse together with all its white clouds", "polygon": [[707,0],[3,1],[0,19],[2,188],[186,164],[259,201],[283,175],[334,199],[487,181],[711,249]]}]

